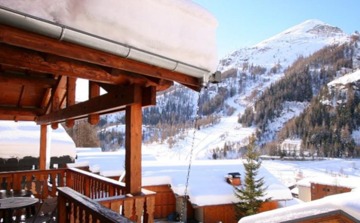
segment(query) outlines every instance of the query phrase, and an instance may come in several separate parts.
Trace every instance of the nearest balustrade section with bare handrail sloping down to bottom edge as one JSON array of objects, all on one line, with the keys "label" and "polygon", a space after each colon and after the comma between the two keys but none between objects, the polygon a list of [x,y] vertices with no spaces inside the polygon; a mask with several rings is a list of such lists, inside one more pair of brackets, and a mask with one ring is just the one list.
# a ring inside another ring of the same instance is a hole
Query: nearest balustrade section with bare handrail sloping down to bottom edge
[{"label": "nearest balustrade section with bare handrail sloping down to bottom edge", "polygon": [[58,223],[131,223],[70,187],[58,187]]}]

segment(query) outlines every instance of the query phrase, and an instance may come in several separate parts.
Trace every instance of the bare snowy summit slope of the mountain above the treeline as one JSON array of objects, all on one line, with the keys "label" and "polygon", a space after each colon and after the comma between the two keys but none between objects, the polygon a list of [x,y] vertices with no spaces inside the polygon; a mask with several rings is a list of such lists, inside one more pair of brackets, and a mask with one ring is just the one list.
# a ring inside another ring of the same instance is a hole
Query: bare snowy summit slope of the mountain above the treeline
[{"label": "bare snowy summit slope of the mountain above the treeline", "polygon": [[317,19],[306,20],[250,48],[240,48],[220,60],[218,70],[242,67],[244,62],[270,69],[280,63],[287,68],[300,55],[308,56],[326,45],[343,43],[350,36],[340,28]]}]

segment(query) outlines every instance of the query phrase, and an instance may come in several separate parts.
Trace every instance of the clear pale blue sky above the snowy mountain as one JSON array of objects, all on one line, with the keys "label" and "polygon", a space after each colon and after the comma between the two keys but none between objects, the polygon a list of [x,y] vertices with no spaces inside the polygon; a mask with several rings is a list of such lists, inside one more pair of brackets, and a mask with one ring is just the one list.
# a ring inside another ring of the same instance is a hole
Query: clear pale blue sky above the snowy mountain
[{"label": "clear pale blue sky above the snowy mountain", "polygon": [[219,58],[252,46],[308,19],[319,19],[348,34],[360,31],[360,0],[193,0],[219,22]]}]

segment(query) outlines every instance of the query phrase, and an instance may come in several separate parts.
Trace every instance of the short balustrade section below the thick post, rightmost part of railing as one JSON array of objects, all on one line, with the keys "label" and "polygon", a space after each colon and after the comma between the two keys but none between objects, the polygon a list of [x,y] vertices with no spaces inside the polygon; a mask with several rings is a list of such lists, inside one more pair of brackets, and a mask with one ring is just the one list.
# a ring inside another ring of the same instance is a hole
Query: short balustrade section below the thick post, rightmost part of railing
[{"label": "short balustrade section below the thick post, rightmost part of railing", "polygon": [[155,194],[155,192],[150,190],[142,189],[142,193],[137,196],[126,194],[95,199],[94,201],[138,223],[141,223],[142,220],[144,223],[153,223]]}]

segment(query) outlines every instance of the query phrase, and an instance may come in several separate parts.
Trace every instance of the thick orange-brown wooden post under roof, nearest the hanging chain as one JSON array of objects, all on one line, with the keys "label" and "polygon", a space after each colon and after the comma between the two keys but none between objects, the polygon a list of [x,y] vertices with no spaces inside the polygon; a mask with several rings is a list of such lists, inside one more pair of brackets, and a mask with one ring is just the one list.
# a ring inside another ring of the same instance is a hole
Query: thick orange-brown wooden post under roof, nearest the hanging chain
[{"label": "thick orange-brown wooden post under roof, nearest the hanging chain", "polygon": [[[135,86],[135,98],[141,99],[140,86]],[[125,192],[141,192],[141,140],[142,100],[126,107],[125,110]]]}]

